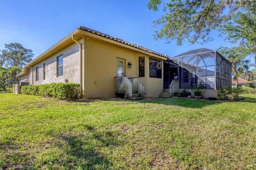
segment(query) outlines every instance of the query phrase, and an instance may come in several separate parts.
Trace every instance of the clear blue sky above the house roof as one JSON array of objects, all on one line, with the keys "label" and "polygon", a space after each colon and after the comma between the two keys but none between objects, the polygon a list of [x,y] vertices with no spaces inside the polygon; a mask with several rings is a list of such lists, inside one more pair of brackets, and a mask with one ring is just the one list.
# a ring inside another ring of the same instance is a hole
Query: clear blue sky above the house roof
[{"label": "clear blue sky above the house roof", "polygon": [[0,49],[20,43],[37,57],[78,26],[85,26],[170,57],[198,49],[229,47],[218,32],[204,45],[154,40],[152,22],[164,15],[149,0],[0,0]]}]

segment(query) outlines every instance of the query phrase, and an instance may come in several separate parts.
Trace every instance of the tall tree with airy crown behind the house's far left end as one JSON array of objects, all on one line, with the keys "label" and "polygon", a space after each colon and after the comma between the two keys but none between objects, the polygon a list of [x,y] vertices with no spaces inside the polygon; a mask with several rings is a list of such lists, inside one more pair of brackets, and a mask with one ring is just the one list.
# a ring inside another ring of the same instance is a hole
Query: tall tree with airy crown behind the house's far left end
[{"label": "tall tree with airy crown behind the house's far left end", "polygon": [[[0,58],[3,61],[3,64],[0,66],[4,67],[23,67],[32,61],[34,57],[33,51],[31,49],[24,48],[20,43],[10,43],[5,44],[5,48],[2,50],[2,57]],[[1,63],[0,63],[1,64]]]}]

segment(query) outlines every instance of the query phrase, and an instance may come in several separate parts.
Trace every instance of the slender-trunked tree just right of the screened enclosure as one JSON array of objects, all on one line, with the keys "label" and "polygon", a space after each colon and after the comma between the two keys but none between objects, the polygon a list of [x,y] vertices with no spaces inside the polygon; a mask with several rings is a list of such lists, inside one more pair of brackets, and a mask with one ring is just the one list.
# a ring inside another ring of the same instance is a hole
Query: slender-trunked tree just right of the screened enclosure
[{"label": "slender-trunked tree just right of the screened enclosure", "polygon": [[244,50],[240,47],[221,47],[218,49],[222,55],[228,59],[232,65],[233,79],[236,81],[236,87],[238,86],[238,75],[243,73],[244,70],[248,70],[250,60],[245,59]]}]

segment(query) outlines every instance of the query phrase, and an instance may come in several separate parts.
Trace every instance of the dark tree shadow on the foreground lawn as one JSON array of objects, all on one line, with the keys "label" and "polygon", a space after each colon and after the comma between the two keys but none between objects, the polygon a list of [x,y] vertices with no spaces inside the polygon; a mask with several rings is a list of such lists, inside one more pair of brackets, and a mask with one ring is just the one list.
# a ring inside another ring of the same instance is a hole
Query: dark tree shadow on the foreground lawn
[{"label": "dark tree shadow on the foreground lawn", "polygon": [[120,144],[114,132],[98,131],[86,126],[86,132],[65,134],[61,138],[68,143],[66,160],[63,162],[68,169],[108,169],[111,161],[102,149],[111,150]]}]

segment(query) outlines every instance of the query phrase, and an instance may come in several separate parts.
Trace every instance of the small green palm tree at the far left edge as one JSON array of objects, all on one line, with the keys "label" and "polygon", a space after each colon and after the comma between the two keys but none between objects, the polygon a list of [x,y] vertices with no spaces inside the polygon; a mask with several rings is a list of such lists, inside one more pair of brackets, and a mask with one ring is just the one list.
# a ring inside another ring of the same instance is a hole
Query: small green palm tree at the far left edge
[{"label": "small green palm tree at the far left edge", "polygon": [[0,77],[2,79],[8,79],[8,87],[11,88],[11,79],[13,77],[13,74],[20,73],[21,69],[20,67],[12,66],[8,68],[0,67]]}]

